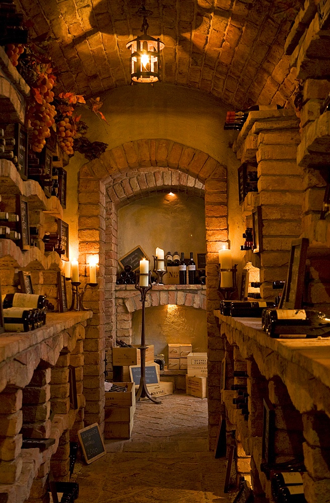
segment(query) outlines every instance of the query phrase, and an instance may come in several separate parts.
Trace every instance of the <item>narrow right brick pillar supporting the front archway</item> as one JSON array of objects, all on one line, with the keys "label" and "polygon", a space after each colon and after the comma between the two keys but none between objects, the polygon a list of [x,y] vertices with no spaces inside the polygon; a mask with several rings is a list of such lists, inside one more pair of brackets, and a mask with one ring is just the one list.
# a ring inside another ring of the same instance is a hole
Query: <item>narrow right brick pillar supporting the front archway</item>
[{"label": "narrow right brick pillar supporting the front archway", "polygon": [[206,310],[208,332],[208,409],[210,449],[214,448],[217,425],[224,405],[220,400],[221,360],[224,357],[223,339],[213,310],[219,309],[218,250],[228,239],[227,231],[227,173],[218,165],[205,180],[206,226]]}]

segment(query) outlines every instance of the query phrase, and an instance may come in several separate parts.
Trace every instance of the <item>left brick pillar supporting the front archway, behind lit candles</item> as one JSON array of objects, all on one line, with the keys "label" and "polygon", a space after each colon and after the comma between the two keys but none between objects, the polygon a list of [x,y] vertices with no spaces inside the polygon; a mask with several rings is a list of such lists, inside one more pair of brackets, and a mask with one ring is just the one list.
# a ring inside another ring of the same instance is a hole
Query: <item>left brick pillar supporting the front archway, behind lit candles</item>
[{"label": "left brick pillar supporting the front archway, behind lit candles", "polygon": [[[79,265],[84,281],[85,265],[91,255],[99,256],[98,286],[87,289],[84,304],[94,312],[88,320],[84,340],[85,425],[104,427],[105,359],[105,187],[86,166],[79,173]],[[88,268],[88,266],[87,266]],[[88,274],[88,271],[87,271]],[[88,276],[85,278],[88,281]]]}]

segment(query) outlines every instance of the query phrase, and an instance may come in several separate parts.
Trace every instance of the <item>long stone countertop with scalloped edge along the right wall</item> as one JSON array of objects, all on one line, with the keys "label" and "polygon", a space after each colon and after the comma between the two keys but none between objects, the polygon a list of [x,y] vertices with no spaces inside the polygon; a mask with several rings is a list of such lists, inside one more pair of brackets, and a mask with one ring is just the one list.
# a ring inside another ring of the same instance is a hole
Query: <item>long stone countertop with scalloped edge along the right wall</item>
[{"label": "long stone countertop with scalloped edge along the right wall", "polygon": [[254,359],[267,379],[282,379],[296,409],[303,412],[315,404],[330,416],[330,337],[272,339],[262,330],[260,318],[233,318],[217,310],[214,315],[244,359]]}]

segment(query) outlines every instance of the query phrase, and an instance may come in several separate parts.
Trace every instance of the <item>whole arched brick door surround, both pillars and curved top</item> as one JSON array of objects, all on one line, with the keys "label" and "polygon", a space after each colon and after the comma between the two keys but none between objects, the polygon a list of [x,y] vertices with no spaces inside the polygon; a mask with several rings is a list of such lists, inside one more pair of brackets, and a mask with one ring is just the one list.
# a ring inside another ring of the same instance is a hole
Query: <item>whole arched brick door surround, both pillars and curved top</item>
[{"label": "whole arched brick door surround, both pillars and curved top", "polygon": [[[206,152],[169,140],[137,140],[104,152],[79,172],[79,263],[99,254],[99,287],[87,294],[85,304],[93,308],[84,343],[85,355],[95,362],[95,375],[104,365],[105,347],[112,347],[116,332],[115,281],[118,268],[117,211],[135,197],[176,188],[201,194],[205,191],[206,312],[209,360],[210,435],[216,435],[219,405],[220,366],[223,347],[213,310],[219,306],[218,249],[227,242],[226,167]],[[104,421],[103,400],[87,402],[88,422]],[[97,401],[99,411],[97,412]],[[89,409],[91,412],[89,412]],[[92,412],[93,410],[93,412]],[[96,412],[94,412],[96,411]]]}]

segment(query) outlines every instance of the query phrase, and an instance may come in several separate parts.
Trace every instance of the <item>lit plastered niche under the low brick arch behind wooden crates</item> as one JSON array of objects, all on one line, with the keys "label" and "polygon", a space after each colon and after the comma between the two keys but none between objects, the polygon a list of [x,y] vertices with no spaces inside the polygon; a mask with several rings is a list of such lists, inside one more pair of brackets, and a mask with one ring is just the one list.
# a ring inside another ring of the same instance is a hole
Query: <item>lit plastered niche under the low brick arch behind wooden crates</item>
[{"label": "lit plastered niche under the low brick arch behind wooden crates", "polygon": [[[141,339],[142,311],[132,316],[133,344]],[[155,355],[162,353],[168,358],[170,343],[190,343],[195,353],[207,351],[206,316],[203,309],[167,304],[145,309],[145,337],[153,344]]]}]

